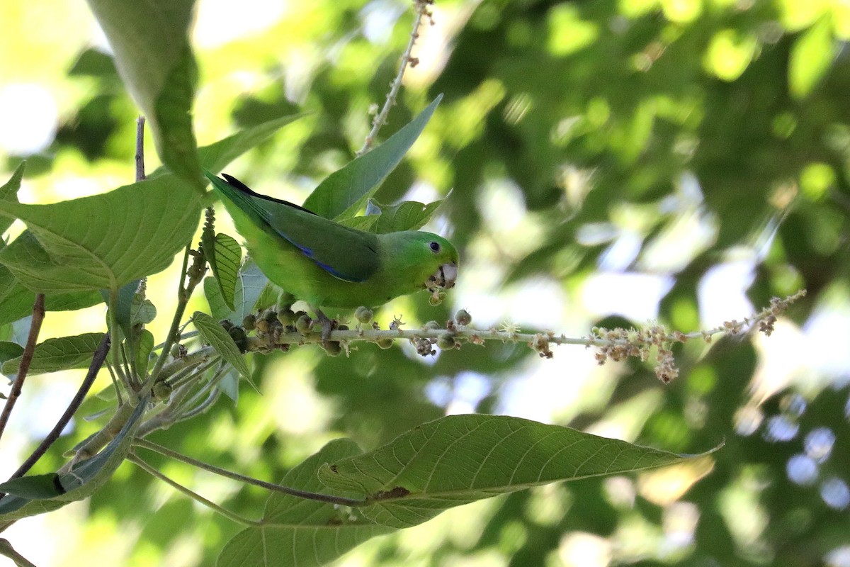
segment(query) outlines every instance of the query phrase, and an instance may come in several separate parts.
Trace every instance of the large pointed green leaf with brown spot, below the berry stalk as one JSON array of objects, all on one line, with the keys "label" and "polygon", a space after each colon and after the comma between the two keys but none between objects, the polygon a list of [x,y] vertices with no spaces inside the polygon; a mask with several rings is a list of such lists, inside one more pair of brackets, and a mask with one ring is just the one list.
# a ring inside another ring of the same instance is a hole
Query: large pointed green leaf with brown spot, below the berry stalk
[{"label": "large pointed green leaf with brown spot, below the berry stalk", "polygon": [[519,417],[442,417],[319,469],[331,490],[368,497],[377,524],[406,528],[450,507],[562,480],[631,473],[687,456]]}]

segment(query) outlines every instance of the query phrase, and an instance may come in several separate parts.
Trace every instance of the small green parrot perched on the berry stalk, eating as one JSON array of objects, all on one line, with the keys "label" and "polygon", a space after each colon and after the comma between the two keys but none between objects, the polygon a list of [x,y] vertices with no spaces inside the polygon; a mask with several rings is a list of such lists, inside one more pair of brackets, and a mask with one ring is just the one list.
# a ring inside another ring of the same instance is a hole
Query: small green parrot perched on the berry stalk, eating
[{"label": "small green parrot perched on the berry stalk, eating", "polygon": [[315,309],[377,307],[390,299],[455,285],[457,250],[430,232],[377,235],[320,217],[303,207],[259,195],[238,179],[205,172],[259,269]]}]

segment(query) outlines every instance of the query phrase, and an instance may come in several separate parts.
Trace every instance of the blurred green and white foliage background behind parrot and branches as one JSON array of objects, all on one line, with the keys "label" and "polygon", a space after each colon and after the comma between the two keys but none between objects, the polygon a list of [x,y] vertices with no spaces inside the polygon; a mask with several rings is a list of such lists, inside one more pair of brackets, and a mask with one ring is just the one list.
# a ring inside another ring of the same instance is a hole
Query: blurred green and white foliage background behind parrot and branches
[{"label": "blurred green and white foliage background behind parrot and branches", "polygon": [[[133,180],[137,111],[82,2],[0,3],[0,173],[50,202]],[[229,173],[300,202],[370,128],[411,31],[401,0],[200,0],[201,144],[307,111]],[[452,509],[367,542],[339,565],[850,565],[850,4],[842,0],[438,0],[386,137],[442,104],[381,202],[449,195],[430,225],[462,249],[439,308],[401,298],[411,326],[463,307],[484,328],[587,335],[659,320],[683,332],[808,296],[772,337],[691,342],[665,386],[651,365],[597,366],[559,347],[409,345],[254,356],[259,392],[154,440],[280,479],[329,439],[371,449],[458,412],[496,412],[710,460],[549,485]],[[149,171],[156,156],[148,151]],[[218,230],[235,235],[224,212]],[[20,230],[13,227],[14,230]],[[161,337],[177,286],[150,278]],[[193,309],[206,309],[202,295]],[[42,337],[99,331],[103,306],[50,313]],[[3,329],[20,339],[28,323]],[[8,476],[76,390],[31,377],[3,438]],[[108,377],[102,377],[106,387]],[[94,430],[77,418],[36,472]],[[151,458],[258,517],[265,495]],[[105,489],[4,536],[36,564],[208,565],[240,527],[125,463]],[[0,560],[2,561],[2,560]]]}]

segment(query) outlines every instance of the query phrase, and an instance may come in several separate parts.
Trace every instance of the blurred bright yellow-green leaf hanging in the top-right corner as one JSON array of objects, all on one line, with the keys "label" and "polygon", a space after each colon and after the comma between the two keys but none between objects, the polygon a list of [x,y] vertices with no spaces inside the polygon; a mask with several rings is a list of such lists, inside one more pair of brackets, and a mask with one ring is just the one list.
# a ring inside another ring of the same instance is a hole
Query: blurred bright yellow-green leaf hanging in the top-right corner
[{"label": "blurred bright yellow-green leaf hanging in the top-right corner", "polygon": [[803,99],[829,71],[836,56],[829,18],[821,18],[797,37],[788,60],[788,86],[795,99]]}]

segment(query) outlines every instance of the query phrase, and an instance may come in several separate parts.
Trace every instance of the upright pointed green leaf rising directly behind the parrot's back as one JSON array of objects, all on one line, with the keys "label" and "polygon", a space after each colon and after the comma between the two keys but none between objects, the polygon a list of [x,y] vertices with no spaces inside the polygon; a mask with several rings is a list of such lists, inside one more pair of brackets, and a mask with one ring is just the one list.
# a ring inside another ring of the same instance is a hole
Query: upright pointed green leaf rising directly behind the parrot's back
[{"label": "upright pointed green leaf rising directly behind the parrot's back", "polygon": [[304,201],[304,207],[326,218],[348,218],[374,194],[419,138],[439,101],[440,94],[412,122],[394,133],[382,145],[355,158],[331,173]]}]

